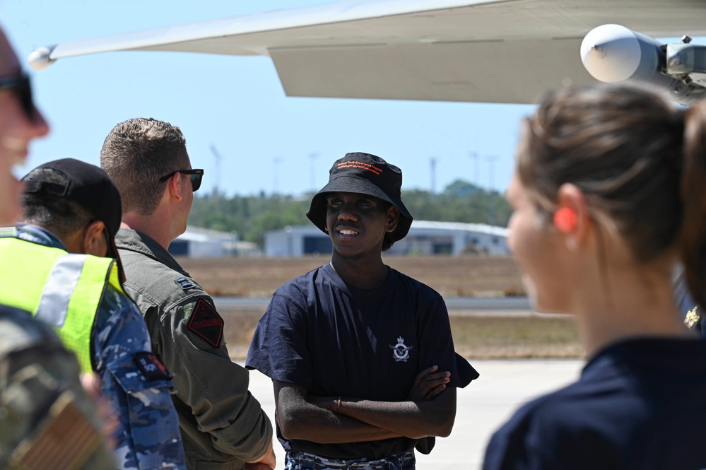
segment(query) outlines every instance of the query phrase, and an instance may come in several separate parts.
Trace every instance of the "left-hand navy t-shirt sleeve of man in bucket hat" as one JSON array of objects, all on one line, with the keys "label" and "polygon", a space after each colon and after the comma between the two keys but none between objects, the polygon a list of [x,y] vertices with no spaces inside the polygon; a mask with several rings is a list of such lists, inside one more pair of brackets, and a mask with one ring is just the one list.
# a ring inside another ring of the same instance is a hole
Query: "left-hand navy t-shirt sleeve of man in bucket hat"
[{"label": "left-hand navy t-shirt sleeve of man in bucket hat", "polygon": [[273,380],[308,387],[312,382],[307,315],[288,292],[278,290],[250,342],[245,367]]}]

